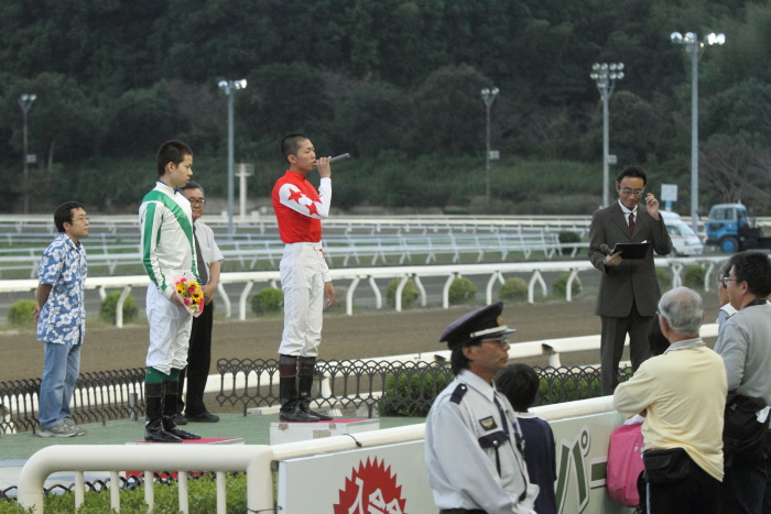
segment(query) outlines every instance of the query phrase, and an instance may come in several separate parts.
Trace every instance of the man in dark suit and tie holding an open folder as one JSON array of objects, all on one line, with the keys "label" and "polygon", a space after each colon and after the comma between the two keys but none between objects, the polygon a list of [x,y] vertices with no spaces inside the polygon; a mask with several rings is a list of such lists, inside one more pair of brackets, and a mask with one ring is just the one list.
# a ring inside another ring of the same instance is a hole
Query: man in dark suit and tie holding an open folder
[{"label": "man in dark suit and tie holding an open folder", "polygon": [[[602,319],[600,376],[602,394],[613,394],[618,385],[618,364],[629,333],[632,370],[648,357],[647,331],[661,297],[653,251],[666,255],[672,239],[659,214],[659,200],[652,193],[640,204],[648,178],[638,166],[627,166],[616,179],[619,200],[596,210],[589,229],[589,261],[602,273],[595,315]],[[648,242],[643,259],[623,259],[610,253],[616,243]]]}]

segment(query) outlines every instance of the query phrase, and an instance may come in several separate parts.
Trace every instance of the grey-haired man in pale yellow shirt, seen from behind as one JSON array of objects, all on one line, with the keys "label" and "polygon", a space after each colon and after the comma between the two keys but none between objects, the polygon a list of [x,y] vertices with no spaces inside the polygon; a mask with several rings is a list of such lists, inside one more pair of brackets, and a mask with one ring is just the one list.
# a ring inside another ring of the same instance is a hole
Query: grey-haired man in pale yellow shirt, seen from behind
[{"label": "grey-haired man in pale yellow shirt, seen from behind", "polygon": [[723,360],[698,336],[704,309],[693,289],[677,287],[659,300],[661,331],[670,341],[618,386],[613,405],[642,414],[647,512],[719,513],[723,414],[727,381]]}]

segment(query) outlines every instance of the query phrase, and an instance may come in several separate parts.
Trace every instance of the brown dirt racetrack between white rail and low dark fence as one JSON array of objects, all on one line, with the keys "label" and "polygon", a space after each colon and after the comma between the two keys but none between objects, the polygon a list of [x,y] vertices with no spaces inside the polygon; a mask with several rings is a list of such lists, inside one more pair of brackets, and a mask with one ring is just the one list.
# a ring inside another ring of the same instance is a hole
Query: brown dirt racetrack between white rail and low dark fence
[{"label": "brown dirt racetrack between white rail and low dark fence", "polygon": [[[705,321],[717,316],[715,293],[704,294]],[[503,321],[518,330],[512,342],[540,339],[589,336],[599,333],[600,321],[594,316],[595,299],[582,296],[574,302],[549,300],[534,305],[510,304],[503,310]],[[437,342],[444,328],[471,310],[473,306],[415,308],[403,313],[392,310],[366,311],[324,318],[324,340],[319,359],[366,359],[371,357],[416,353],[446,349]],[[220,358],[276,357],[283,317],[245,321],[217,320],[214,327],[210,373],[216,373]],[[0,381],[40,376],[43,350],[33,330],[0,333]],[[89,328],[80,356],[80,371],[105,371],[144,367],[146,325],[118,328]],[[708,341],[709,342],[709,341]],[[526,360],[532,365],[545,365],[545,358]],[[562,356],[564,365],[599,362],[599,352],[575,352]]]}]

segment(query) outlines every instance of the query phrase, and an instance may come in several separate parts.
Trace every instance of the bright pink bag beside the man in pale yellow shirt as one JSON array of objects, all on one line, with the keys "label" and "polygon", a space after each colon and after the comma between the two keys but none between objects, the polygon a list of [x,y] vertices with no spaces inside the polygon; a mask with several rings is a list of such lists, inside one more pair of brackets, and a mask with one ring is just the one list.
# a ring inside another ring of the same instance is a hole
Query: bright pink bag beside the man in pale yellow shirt
[{"label": "bright pink bag beside the man in pale yellow shirt", "polygon": [[642,424],[621,425],[610,434],[608,449],[608,494],[628,507],[640,504],[637,479],[643,470]]}]

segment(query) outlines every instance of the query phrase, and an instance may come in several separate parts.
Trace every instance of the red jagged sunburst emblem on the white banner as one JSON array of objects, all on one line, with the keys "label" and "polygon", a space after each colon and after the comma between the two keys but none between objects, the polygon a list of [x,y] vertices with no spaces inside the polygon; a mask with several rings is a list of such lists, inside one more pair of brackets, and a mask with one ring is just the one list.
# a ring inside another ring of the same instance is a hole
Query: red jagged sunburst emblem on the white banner
[{"label": "red jagged sunburst emblem on the white banner", "polygon": [[386,468],[382,461],[378,463],[377,458],[370,463],[368,458],[346,479],[335,514],[406,514],[406,500],[401,495],[402,486],[397,485],[391,467]]}]

